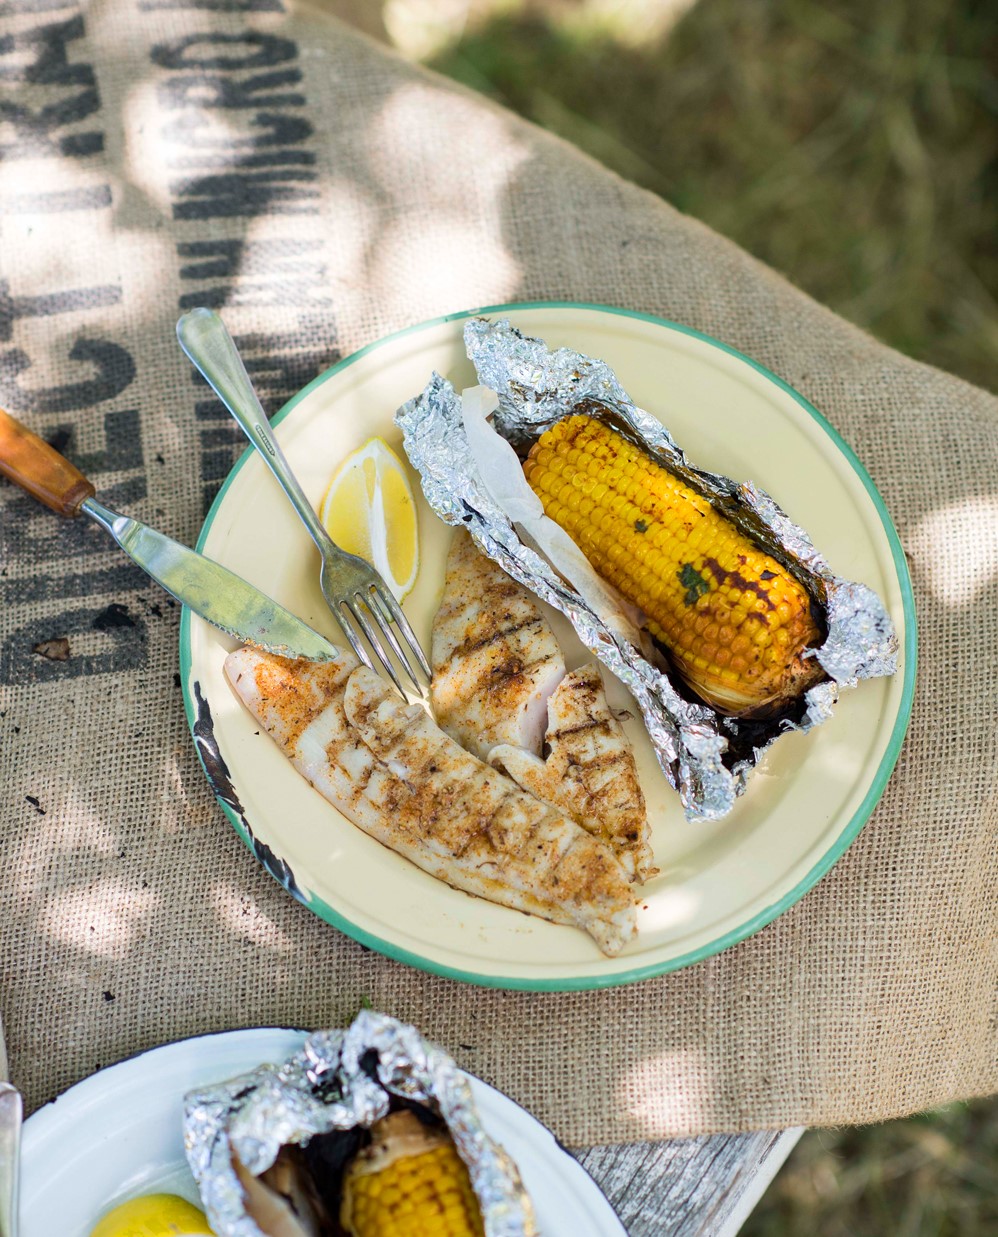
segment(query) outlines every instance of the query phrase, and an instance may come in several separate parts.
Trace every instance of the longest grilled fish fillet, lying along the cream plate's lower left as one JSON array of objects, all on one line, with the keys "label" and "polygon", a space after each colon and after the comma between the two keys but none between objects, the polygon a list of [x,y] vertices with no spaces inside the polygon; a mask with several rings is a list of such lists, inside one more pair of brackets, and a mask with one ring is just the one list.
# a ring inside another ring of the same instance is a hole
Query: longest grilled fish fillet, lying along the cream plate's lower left
[{"label": "longest grilled fish fillet, lying along the cream plate's lower left", "polygon": [[242,648],[225,672],[298,772],[423,871],[575,924],[608,955],[633,936],[634,901],[611,847],[471,756],[352,654],[315,664]]}]

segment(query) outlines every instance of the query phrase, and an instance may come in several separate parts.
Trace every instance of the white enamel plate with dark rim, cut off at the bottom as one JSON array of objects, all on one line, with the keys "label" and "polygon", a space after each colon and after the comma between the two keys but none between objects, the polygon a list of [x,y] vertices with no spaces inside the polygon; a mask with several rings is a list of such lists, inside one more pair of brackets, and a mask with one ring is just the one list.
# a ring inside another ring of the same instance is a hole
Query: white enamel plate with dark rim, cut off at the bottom
[{"label": "white enamel plate with dark rim, cut off at the bottom", "polygon": [[[25,1122],[21,1237],[88,1237],[115,1204],[166,1190],[198,1202],[183,1149],[183,1097],[297,1050],[303,1030],[228,1030],[111,1065]],[[501,1091],[469,1075],[488,1133],[517,1162],[542,1233],[626,1237],[585,1169]]]}]

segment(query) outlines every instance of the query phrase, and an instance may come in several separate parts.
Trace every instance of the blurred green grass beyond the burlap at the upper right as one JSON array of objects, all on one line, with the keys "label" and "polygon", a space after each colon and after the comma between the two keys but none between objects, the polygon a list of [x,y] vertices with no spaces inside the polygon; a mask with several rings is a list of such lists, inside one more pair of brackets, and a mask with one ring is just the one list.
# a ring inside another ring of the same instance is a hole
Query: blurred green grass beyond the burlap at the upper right
[{"label": "blurred green grass beyond the burlap at the upper right", "polygon": [[587,7],[505,4],[430,63],[902,351],[994,382],[998,5],[701,0],[639,46]]}]

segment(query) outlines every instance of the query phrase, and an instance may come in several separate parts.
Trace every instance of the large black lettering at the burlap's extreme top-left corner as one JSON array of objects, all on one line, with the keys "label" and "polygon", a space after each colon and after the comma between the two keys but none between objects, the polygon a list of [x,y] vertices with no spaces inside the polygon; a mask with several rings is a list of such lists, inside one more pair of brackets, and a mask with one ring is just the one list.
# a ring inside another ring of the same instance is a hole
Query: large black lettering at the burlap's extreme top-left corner
[{"label": "large black lettering at the burlap's extreme top-left corner", "polygon": [[[12,88],[9,98],[0,96],[0,124],[15,134],[14,141],[0,142],[0,158],[82,158],[104,148],[104,135],[98,131],[57,134],[100,108],[93,68],[70,63],[67,53],[67,45],[82,38],[83,33],[83,17],[77,15],[70,21],[0,37],[0,87]],[[32,57],[27,62],[25,53]],[[33,105],[30,96],[36,85],[82,89]]]}]

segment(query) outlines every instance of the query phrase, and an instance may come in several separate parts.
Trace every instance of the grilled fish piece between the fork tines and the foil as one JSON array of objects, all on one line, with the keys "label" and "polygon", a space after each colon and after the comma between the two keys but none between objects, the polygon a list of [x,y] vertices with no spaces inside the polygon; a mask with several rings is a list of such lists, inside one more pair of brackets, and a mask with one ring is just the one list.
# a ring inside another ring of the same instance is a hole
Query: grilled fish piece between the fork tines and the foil
[{"label": "grilled fish piece between the fork tines and the foil", "polygon": [[430,662],[433,714],[451,738],[482,760],[497,743],[540,755],[565,659],[529,593],[464,529],[448,554]]}]

